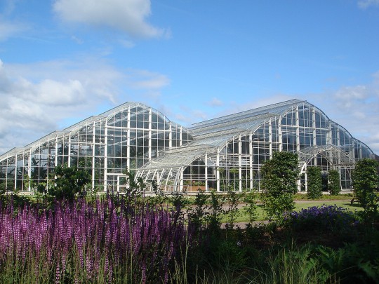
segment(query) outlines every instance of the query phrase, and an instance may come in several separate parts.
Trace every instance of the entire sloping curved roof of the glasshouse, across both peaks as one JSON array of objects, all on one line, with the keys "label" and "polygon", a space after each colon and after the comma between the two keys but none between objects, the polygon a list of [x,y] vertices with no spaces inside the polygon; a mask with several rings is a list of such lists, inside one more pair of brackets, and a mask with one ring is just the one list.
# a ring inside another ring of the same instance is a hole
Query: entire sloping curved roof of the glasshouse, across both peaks
[{"label": "entire sloping curved roof of the glasshouse, across both peaks", "polygon": [[[194,137],[193,141],[188,142],[187,144],[183,145],[183,147],[179,147],[177,149],[162,151],[159,157],[154,158],[143,168],[161,168],[168,166],[177,167],[179,165],[189,164],[194,161],[194,159],[197,158],[199,154],[205,154],[207,151],[216,151],[218,147],[225,146],[227,142],[232,140],[233,137],[238,136],[240,133],[253,132],[258,128],[258,126],[267,123],[267,121],[270,119],[279,119],[280,117],[283,117],[288,111],[291,111],[294,106],[300,103],[309,104],[310,106],[317,109],[317,111],[319,111],[321,114],[323,114],[326,119],[328,119],[328,116],[326,116],[326,114],[324,114],[321,109],[318,109],[305,100],[288,100],[286,102],[279,102],[277,104],[270,104],[265,107],[258,107],[256,109],[242,111],[237,114],[222,116],[217,119],[210,119],[208,121],[194,123],[191,128],[183,127],[183,130],[187,130],[188,133],[192,134]],[[119,105],[118,107],[110,109],[109,111],[105,111],[98,116],[91,116],[88,119],[84,119],[83,121],[74,124],[73,126],[69,126],[63,130],[55,131],[44,137],[41,137],[39,140],[27,144],[25,147],[13,148],[5,154],[1,155],[0,161],[4,161],[6,158],[10,158],[18,154],[27,155],[30,151],[34,151],[34,149],[39,147],[41,144],[55,140],[56,137],[65,137],[67,135],[77,133],[77,131],[79,131],[84,126],[88,126],[88,124],[105,123],[105,121],[108,119],[111,119],[122,111],[126,111],[128,108],[140,108],[140,111],[131,112],[131,116],[137,116],[143,111],[151,109],[154,114],[157,114],[165,121],[170,122],[170,120],[167,119],[167,117],[160,111],[157,111],[157,109],[148,107],[147,105],[140,102],[126,102]],[[331,121],[330,119],[328,120]],[[352,135],[338,123],[335,123],[333,121],[331,121],[331,123],[333,126],[344,130],[347,135],[352,137]],[[173,126],[178,126],[177,123],[172,124]],[[363,142],[360,143],[366,146],[366,144]]]}]

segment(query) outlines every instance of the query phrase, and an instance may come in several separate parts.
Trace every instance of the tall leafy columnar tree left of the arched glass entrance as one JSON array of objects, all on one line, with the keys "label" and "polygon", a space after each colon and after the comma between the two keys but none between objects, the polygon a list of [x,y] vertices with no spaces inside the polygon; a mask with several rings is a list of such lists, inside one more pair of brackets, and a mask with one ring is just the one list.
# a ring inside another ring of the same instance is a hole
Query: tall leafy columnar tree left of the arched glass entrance
[{"label": "tall leafy columnar tree left of the arched glass entrance", "polygon": [[265,194],[262,201],[267,215],[281,219],[285,211],[294,208],[293,195],[298,191],[298,155],[291,152],[274,152],[271,160],[260,168],[262,188]]}]

